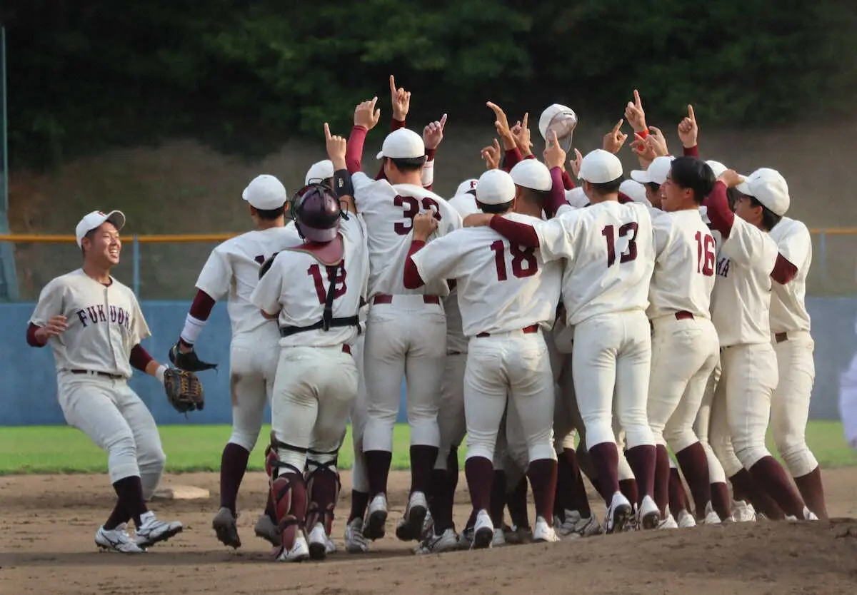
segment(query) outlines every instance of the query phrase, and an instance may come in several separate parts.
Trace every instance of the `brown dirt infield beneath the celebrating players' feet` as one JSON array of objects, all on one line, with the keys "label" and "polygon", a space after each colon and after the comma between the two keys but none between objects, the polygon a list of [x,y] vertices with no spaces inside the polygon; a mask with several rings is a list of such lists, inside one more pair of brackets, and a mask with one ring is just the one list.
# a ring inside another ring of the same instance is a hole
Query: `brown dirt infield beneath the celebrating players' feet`
[{"label": "brown dirt infield beneath the celebrating players' feet", "polygon": [[[273,564],[253,535],[266,478],[250,473],[242,486],[237,553],[211,529],[218,507],[214,473],[165,477],[164,485],[197,485],[207,501],[153,503],[184,533],[143,556],[99,553],[93,534],[113,498],[105,475],[0,478],[0,593],[786,593],[852,594],[857,588],[857,470],[824,473],[834,521],[741,524],[625,533],[560,544],[515,545],[479,552],[412,556],[393,534],[405,506],[409,476],[391,474],[387,538],[372,554],[338,552],[327,562]],[[343,484],[351,485],[345,473]],[[456,521],[467,515],[464,478]],[[342,549],[349,494],[339,500],[334,538]],[[602,505],[594,510],[602,514]],[[447,591],[448,589],[448,591]]]}]

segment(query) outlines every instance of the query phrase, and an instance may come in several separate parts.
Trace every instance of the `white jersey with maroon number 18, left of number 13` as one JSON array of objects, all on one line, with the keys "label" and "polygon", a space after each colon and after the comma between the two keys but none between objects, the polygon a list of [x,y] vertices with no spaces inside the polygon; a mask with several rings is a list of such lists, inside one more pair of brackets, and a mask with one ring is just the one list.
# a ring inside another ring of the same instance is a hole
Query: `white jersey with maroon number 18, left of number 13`
[{"label": "white jersey with maroon number 18, left of number 13", "polygon": [[[503,217],[540,221],[518,213]],[[562,266],[546,265],[535,248],[510,244],[487,227],[464,228],[426,244],[412,259],[423,281],[456,279],[464,336],[554,325]]]}]

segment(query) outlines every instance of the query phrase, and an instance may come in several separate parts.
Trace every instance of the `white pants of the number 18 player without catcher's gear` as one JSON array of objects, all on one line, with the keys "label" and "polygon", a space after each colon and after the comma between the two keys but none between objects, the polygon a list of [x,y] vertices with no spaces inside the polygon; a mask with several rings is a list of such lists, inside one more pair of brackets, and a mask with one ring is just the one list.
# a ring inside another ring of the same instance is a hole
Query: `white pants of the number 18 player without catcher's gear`
[{"label": "white pants of the number 18 player without catcher's gear", "polygon": [[473,337],[468,352],[464,372],[467,458],[481,456],[494,461],[508,395],[510,414],[514,409],[524,433],[528,462],[555,461],[554,382],[541,332],[515,330]]}]

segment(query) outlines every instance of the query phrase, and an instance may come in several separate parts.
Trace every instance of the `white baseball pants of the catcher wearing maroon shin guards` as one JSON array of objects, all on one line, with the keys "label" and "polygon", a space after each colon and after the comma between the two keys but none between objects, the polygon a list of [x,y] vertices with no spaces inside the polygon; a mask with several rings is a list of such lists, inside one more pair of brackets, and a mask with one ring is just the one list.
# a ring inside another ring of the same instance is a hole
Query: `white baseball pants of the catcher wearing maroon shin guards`
[{"label": "white baseball pants of the catcher wearing maroon shin guards", "polygon": [[341,346],[281,348],[271,427],[293,448],[278,448],[279,461],[303,471],[308,458],[335,460],[356,397],[357,365]]}]

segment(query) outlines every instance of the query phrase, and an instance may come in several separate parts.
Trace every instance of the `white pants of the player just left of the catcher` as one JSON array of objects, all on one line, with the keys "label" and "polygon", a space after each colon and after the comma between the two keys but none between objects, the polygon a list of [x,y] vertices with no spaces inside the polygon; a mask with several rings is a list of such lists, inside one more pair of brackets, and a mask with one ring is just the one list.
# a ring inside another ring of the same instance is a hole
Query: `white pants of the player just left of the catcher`
[{"label": "white pants of the player just left of the catcher", "polygon": [[271,402],[279,361],[279,337],[233,341],[229,354],[232,435],[229,442],[253,450],[259,439],[265,406]]}]

